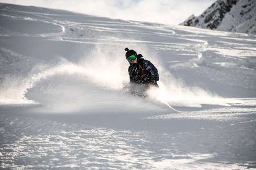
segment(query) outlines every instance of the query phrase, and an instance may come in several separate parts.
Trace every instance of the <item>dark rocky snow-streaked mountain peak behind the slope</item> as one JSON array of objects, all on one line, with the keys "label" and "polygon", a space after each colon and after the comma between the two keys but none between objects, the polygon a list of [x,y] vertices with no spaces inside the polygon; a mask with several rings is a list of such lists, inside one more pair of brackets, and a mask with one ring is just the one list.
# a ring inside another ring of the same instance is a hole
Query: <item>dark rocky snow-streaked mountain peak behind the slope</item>
[{"label": "dark rocky snow-streaked mountain peak behind the slope", "polygon": [[200,16],[192,15],[180,25],[218,31],[256,33],[256,1],[218,0]]}]

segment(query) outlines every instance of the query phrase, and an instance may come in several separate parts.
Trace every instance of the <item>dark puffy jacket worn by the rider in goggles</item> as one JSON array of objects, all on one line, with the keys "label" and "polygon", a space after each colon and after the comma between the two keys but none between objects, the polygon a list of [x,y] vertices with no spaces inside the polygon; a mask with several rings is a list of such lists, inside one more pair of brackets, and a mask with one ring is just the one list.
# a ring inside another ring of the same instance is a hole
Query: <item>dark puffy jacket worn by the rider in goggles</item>
[{"label": "dark puffy jacket worn by the rider in goggles", "polygon": [[159,80],[158,69],[143,58],[138,58],[137,63],[129,66],[130,83],[156,84]]}]

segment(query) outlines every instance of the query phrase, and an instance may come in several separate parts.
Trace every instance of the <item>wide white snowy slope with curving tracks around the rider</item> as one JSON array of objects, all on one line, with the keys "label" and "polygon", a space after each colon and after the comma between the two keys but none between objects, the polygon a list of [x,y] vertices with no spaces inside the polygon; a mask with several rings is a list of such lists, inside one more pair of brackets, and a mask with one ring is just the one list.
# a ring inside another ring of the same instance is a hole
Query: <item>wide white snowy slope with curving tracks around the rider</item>
[{"label": "wide white snowy slope with curving tracks around the rider", "polygon": [[[255,35],[0,4],[7,169],[256,167]],[[146,99],[125,48],[159,70]]]}]

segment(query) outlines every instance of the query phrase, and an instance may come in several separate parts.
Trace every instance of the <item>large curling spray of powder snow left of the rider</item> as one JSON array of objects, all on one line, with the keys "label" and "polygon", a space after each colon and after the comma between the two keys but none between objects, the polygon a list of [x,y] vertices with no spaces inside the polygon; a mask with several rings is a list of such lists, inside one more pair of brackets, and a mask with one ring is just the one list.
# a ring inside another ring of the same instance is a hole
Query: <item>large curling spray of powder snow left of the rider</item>
[{"label": "large curling spray of powder snow left of the rider", "polygon": [[85,52],[79,63],[61,58],[57,65],[33,76],[24,96],[53,112],[125,112],[145,104],[153,109],[150,103],[122,92],[129,82],[127,68],[123,68],[127,65],[123,55],[100,45]]}]

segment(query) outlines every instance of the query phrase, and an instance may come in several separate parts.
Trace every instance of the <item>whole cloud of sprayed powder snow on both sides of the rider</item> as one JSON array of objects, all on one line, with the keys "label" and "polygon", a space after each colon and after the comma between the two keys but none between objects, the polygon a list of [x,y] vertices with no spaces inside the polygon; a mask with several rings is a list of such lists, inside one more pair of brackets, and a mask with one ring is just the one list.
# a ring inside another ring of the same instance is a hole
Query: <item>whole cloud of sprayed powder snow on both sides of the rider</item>
[{"label": "whole cloud of sprayed powder snow on both sides of the rider", "polygon": [[[137,49],[147,56],[143,46]],[[98,45],[84,53],[79,63],[60,58],[59,62],[32,76],[24,95],[39,102],[51,112],[127,112],[141,108],[160,109],[159,104],[178,107],[201,107],[201,104],[227,105],[220,97],[199,87],[188,87],[176,80],[157,59],[150,59],[159,70],[159,89],[147,91],[148,99],[122,91],[129,84],[127,63],[121,46]],[[113,53],[113,51],[117,53]],[[154,56],[157,54],[154,54]],[[151,100],[153,99],[153,100]]]}]

